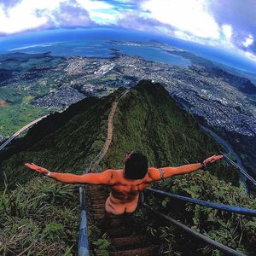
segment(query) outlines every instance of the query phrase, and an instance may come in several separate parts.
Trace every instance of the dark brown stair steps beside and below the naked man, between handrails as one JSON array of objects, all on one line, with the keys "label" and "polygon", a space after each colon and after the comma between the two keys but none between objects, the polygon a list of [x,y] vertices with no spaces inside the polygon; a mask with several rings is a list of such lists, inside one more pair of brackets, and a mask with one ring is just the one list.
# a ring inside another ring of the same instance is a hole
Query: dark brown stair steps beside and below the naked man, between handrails
[{"label": "dark brown stair steps beside and below the naked man, between handrails", "polygon": [[102,235],[107,234],[110,241],[110,256],[140,256],[160,255],[160,246],[155,243],[154,237],[144,231],[132,216],[116,215],[105,216],[105,201],[108,191],[104,186],[90,186],[88,188],[92,217]]}]

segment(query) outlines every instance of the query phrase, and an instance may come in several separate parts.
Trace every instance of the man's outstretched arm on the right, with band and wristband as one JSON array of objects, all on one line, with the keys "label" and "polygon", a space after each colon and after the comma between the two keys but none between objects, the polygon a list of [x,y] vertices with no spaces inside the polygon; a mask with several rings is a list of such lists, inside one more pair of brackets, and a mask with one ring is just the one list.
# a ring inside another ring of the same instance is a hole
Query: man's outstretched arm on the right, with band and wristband
[{"label": "man's outstretched arm on the right, with band and wristband", "polygon": [[208,157],[206,160],[204,160],[202,164],[196,163],[196,164],[190,164],[190,165],[184,165],[184,166],[178,166],[178,167],[162,167],[159,169],[151,168],[148,172],[148,175],[151,179],[151,182],[154,182],[166,177],[172,177],[175,175],[195,172],[201,169],[203,166],[206,167],[210,163],[213,163],[214,161],[222,158],[223,158],[223,155],[214,154],[211,157]]}]

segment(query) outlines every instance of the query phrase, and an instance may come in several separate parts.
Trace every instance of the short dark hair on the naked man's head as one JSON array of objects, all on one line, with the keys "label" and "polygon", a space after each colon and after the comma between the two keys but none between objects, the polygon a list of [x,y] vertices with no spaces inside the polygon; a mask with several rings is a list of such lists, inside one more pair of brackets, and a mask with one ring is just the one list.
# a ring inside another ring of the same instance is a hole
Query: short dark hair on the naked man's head
[{"label": "short dark hair on the naked man's head", "polygon": [[138,151],[132,152],[125,160],[125,177],[129,179],[141,179],[148,172],[148,159]]}]

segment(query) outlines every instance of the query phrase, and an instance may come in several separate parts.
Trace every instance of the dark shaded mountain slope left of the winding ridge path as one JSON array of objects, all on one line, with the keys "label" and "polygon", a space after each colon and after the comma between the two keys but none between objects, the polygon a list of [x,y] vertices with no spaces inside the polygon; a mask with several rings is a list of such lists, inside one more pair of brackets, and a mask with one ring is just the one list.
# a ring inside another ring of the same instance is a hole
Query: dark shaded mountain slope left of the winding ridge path
[{"label": "dark shaded mountain slope left of the winding ridge path", "polygon": [[108,128],[108,111],[118,94],[119,91],[101,100],[84,99],[63,113],[43,119],[0,154],[1,175],[4,171],[10,184],[24,183],[32,175],[24,163],[31,161],[57,172],[81,173],[101,150]]}]

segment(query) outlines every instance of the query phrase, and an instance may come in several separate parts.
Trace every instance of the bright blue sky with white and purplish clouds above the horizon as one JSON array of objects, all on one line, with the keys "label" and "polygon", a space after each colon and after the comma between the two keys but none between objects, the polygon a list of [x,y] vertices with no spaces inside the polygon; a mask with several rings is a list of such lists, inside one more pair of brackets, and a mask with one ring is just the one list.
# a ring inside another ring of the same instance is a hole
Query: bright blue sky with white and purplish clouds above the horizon
[{"label": "bright blue sky with white and purplish clouds above the horizon", "polygon": [[0,0],[0,37],[77,26],[160,33],[256,62],[256,0]]}]

